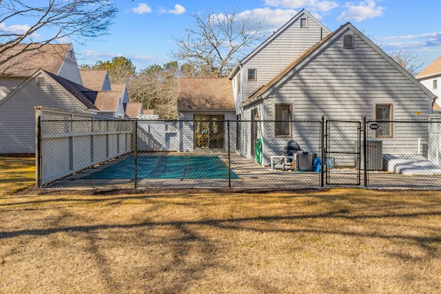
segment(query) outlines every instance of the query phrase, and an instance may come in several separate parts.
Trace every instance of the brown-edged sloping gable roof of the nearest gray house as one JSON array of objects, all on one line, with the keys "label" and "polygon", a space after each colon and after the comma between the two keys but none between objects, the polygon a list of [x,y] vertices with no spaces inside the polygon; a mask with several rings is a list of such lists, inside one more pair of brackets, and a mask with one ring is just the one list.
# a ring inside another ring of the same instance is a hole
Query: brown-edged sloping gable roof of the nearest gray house
[{"label": "brown-edged sloping gable roof of the nearest gray house", "polygon": [[316,45],[312,46],[303,54],[298,56],[297,59],[295,59],[291,64],[289,64],[287,67],[285,67],[284,70],[282,70],[279,74],[277,74],[274,78],[271,79],[268,83],[265,85],[262,85],[258,87],[245,101],[243,101],[242,106],[246,106],[249,104],[252,104],[256,101],[260,101],[260,99],[265,98],[274,88],[278,87],[280,84],[287,81],[287,79],[292,76],[294,73],[296,73],[300,68],[302,68],[303,65],[308,63],[311,59],[314,58],[317,54],[322,52],[322,50],[325,50],[327,45],[332,43],[334,40],[338,39],[342,34],[347,32],[347,30],[351,30],[354,34],[356,34],[360,39],[365,41],[373,50],[375,50],[378,54],[380,54],[384,59],[389,61],[391,65],[396,67],[398,71],[400,71],[404,76],[406,76],[412,83],[414,83],[422,92],[430,96],[432,99],[435,98],[435,95],[427,90],[426,87],[424,87],[420,82],[416,80],[415,77],[413,77],[407,70],[404,70],[403,67],[398,65],[396,61],[394,61],[391,56],[387,55],[383,50],[381,50],[376,44],[374,44],[371,40],[369,40],[362,32],[357,30],[351,23],[346,23],[345,25],[340,26],[337,30],[329,34],[325,39],[322,39],[322,41],[316,43]]}]

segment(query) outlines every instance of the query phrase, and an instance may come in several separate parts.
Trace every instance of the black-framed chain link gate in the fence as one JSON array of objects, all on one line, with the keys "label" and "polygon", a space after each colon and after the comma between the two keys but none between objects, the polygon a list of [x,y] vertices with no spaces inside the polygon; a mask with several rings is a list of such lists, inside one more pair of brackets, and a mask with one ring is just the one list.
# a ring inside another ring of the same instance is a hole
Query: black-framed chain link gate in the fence
[{"label": "black-framed chain link gate in the fence", "polygon": [[358,120],[326,120],[326,185],[360,185],[361,133],[362,123]]}]

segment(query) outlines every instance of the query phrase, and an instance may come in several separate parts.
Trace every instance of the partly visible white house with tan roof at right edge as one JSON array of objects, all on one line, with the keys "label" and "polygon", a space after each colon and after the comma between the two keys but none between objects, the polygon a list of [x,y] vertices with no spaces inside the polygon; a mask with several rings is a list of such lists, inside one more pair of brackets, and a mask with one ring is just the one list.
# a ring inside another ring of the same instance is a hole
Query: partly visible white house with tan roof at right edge
[{"label": "partly visible white house with tan roof at right edge", "polygon": [[[416,79],[438,98],[441,96],[441,56],[420,72]],[[433,103],[433,114],[441,114],[441,102]]]}]

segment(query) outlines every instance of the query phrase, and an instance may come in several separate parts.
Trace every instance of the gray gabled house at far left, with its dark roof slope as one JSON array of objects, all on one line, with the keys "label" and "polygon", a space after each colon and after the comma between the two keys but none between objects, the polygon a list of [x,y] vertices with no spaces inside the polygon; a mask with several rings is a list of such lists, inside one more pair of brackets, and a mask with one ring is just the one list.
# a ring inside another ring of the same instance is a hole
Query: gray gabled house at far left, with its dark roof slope
[{"label": "gray gabled house at far left, with its dark roof slope", "polygon": [[35,152],[36,106],[98,114],[90,90],[38,70],[0,100],[0,154]]}]

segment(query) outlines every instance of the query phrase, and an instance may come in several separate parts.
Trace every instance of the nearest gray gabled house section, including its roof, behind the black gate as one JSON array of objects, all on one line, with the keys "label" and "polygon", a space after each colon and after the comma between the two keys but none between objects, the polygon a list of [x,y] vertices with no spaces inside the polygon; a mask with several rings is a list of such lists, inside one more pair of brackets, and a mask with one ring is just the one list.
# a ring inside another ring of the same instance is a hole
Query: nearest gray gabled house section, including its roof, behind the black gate
[{"label": "nearest gray gabled house section, including its roof, behind the black gate", "polygon": [[[257,132],[243,129],[240,150],[253,158],[254,143],[262,138],[264,165],[269,164],[270,156],[280,155],[288,140],[319,154],[320,150],[314,149],[307,138],[314,134],[300,132],[291,121],[320,120],[321,116],[327,120],[360,120],[362,116],[367,120],[427,120],[434,98],[416,78],[351,23],[346,23],[254,92],[244,89],[242,95],[236,96],[243,120],[282,120],[259,125]],[[393,125],[385,123],[380,125],[376,138],[391,140],[393,132]],[[345,132],[340,133],[341,140],[346,136]],[[427,134],[407,138],[412,142],[418,139],[427,141]]]}]

